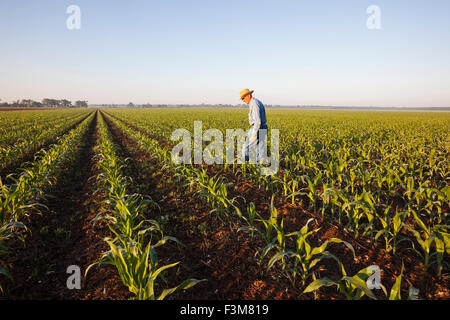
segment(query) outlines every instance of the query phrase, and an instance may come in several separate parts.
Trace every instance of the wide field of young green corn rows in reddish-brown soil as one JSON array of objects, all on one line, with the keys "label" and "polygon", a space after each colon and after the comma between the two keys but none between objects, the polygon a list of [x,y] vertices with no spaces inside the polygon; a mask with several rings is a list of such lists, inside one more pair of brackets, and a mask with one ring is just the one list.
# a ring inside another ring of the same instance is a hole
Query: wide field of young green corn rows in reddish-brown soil
[{"label": "wide field of young green corn rows in reddish-brown soil", "polygon": [[0,112],[0,299],[450,298],[450,113],[268,109],[277,174],[172,161],[247,112]]}]

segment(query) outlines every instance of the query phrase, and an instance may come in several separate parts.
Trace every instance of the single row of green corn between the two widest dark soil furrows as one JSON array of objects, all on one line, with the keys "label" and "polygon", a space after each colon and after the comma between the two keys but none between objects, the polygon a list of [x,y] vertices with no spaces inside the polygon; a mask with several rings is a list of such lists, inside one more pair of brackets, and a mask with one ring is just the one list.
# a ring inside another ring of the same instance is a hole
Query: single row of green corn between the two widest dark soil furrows
[{"label": "single row of green corn between the two widest dark soil furrows", "polygon": [[99,148],[97,152],[100,174],[99,190],[105,195],[105,210],[94,221],[107,221],[113,237],[106,238],[110,250],[89,266],[109,264],[116,267],[120,278],[138,300],[162,300],[177,290],[188,289],[202,280],[187,279],[174,288],[156,293],[163,272],[179,262],[161,266],[157,248],[168,241],[179,241],[163,232],[155,219],[148,219],[158,205],[149,197],[129,193],[130,179],[123,174],[126,160],[118,155],[117,145],[100,116]]}]

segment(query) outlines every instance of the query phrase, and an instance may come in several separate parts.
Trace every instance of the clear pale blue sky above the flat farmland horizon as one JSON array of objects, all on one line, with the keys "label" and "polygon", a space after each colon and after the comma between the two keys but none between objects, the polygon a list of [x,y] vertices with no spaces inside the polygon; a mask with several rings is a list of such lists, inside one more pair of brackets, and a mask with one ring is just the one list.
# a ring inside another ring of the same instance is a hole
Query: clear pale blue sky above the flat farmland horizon
[{"label": "clear pale blue sky above the flat farmland horizon", "polygon": [[266,104],[448,107],[449,15],[448,0],[1,0],[0,99],[237,104],[249,87]]}]

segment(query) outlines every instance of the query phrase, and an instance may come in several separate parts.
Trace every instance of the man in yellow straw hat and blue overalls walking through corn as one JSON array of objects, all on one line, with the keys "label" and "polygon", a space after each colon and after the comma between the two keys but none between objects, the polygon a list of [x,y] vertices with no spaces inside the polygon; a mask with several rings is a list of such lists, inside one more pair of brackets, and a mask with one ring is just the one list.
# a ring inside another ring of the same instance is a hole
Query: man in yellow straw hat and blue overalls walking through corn
[{"label": "man in yellow straw hat and blue overalls walking through corn", "polygon": [[259,164],[259,161],[264,157],[267,119],[266,108],[261,101],[253,97],[253,92],[254,90],[244,89],[240,93],[241,100],[248,104],[249,107],[248,122],[250,124],[250,130],[242,148],[242,158],[247,162],[250,159],[250,153],[256,152],[255,160]]}]

